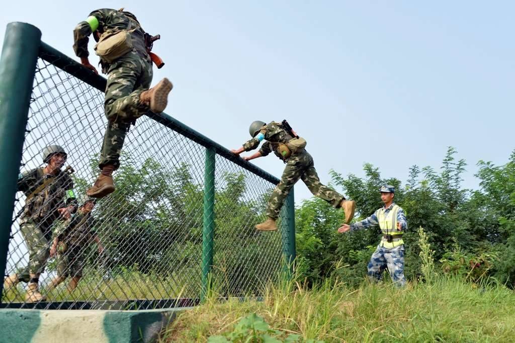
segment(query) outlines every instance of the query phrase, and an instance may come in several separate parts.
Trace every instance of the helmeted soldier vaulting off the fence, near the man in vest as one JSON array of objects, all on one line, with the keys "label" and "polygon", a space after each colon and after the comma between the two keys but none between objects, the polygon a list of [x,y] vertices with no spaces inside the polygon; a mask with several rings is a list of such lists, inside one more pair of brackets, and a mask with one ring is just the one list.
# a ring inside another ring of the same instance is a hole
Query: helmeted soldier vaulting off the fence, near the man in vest
[{"label": "helmeted soldier vaulting off the fence, near the man in vest", "polygon": [[267,156],[273,151],[277,157],[286,163],[281,181],[273,190],[268,200],[266,210],[268,219],[256,225],[256,229],[261,231],[277,230],[276,220],[279,217],[284,200],[288,196],[291,187],[299,179],[302,179],[313,195],[324,199],[335,208],[341,207],[344,209],[346,222],[352,219],[355,209],[354,201],[346,200],[344,196],[335,190],[323,185],[318,178],[313,157],[311,157],[310,153],[303,148],[295,149],[291,147],[290,143],[293,142],[294,138],[298,138],[295,131],[289,131],[289,129],[284,127],[283,123],[271,122],[266,124],[265,122],[255,121],[250,125],[249,133],[252,139],[245,142],[241,148],[231,150],[233,153],[239,155],[244,151],[253,150],[260,145],[261,141],[266,140],[258,152],[252,156],[244,157],[244,159],[250,161]]}]

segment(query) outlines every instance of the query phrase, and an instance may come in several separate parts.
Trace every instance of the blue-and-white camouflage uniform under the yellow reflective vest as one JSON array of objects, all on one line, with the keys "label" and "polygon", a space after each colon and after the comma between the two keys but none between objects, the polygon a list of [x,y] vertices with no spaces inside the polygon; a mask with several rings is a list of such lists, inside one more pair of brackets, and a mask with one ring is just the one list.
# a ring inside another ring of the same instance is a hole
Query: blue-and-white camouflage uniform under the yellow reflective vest
[{"label": "blue-and-white camouflage uniform under the yellow reflective vest", "polygon": [[[393,206],[394,204],[392,203],[388,208],[383,207],[377,211],[384,211],[385,214],[388,214]],[[377,211],[370,217],[352,224],[350,226],[351,231],[367,229],[378,225]],[[401,231],[407,229],[406,215],[401,208],[397,211],[397,222],[401,224]],[[394,229],[397,230],[397,228]],[[404,277],[404,242],[399,246],[394,246],[394,244],[388,243],[383,237],[372,254],[367,269],[369,277],[374,280],[381,280],[383,271],[388,269],[393,282],[398,286],[404,286],[406,284],[406,278]]]}]

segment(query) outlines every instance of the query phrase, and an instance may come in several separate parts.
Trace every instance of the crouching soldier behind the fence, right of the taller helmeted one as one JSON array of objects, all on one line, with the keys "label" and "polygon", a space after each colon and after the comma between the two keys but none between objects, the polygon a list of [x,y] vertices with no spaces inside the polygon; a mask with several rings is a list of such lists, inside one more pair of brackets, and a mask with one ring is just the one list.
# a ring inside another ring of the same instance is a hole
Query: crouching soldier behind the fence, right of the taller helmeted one
[{"label": "crouching soldier behind the fence, right of the taller helmeted one", "polygon": [[57,255],[57,277],[47,288],[48,291],[71,277],[68,291],[73,291],[80,279],[84,268],[84,258],[88,245],[95,242],[101,254],[104,247],[93,230],[95,221],[91,211],[95,207],[95,198],[86,197],[81,207],[72,218],[64,220],[57,225],[55,238],[50,248],[50,256]]}]

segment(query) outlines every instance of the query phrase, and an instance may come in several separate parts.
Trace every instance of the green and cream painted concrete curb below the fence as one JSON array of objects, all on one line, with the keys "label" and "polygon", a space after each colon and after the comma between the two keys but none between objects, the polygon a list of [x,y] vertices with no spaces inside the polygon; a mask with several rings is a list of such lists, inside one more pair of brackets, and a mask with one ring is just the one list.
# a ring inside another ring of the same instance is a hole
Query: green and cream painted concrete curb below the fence
[{"label": "green and cream painted concrete curb below the fence", "polygon": [[184,308],[146,311],[0,310],[0,343],[153,342]]}]

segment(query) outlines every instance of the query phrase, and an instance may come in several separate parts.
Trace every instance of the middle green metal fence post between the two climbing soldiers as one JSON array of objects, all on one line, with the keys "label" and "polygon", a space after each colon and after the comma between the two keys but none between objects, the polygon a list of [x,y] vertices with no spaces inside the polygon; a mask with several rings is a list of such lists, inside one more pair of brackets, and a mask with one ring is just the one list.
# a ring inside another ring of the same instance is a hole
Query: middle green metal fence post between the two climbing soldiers
[{"label": "middle green metal fence post between the two climbing soldiers", "polygon": [[205,148],[204,217],[202,233],[202,289],[204,301],[209,289],[209,275],[213,265],[213,235],[215,230],[215,157],[214,147]]}]

